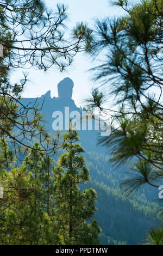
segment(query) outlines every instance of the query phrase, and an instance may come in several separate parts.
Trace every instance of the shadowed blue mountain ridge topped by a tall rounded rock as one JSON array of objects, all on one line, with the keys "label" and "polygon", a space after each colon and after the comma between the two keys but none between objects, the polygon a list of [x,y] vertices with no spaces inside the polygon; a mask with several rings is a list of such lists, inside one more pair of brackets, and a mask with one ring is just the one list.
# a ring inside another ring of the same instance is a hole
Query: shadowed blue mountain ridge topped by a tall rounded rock
[{"label": "shadowed blue mountain ridge topped by a tall rounded rock", "polygon": [[[74,100],[72,99],[74,87],[73,81],[70,78],[66,77],[64,78],[64,80],[58,83],[57,87],[58,97],[52,98],[51,91],[48,90],[48,92],[44,95],[41,95],[41,97],[26,98],[21,100],[23,105],[28,105],[28,107],[33,106],[36,102],[36,106],[41,109],[40,112],[44,114],[44,120],[46,121],[44,125],[46,126],[48,132],[52,133],[52,135],[55,135],[56,130],[68,130],[66,129],[66,121],[69,124],[70,118],[72,118],[71,113],[73,114],[74,118],[77,118],[77,115],[79,115],[78,120],[80,119],[80,117],[82,117],[82,108],[77,107]],[[58,123],[58,129],[54,130],[54,121],[56,120],[55,123],[57,123],[59,117],[63,120],[63,129],[60,128],[60,125]],[[86,150],[92,150],[92,148],[97,147],[97,138],[99,131],[95,131],[93,125],[94,120],[92,120],[92,129],[89,129],[88,125],[86,124],[86,129],[82,130],[81,122],[80,129],[77,129],[77,131],[79,132],[81,143]],[[98,147],[98,150],[101,152],[104,151],[104,149],[100,147]]]}]

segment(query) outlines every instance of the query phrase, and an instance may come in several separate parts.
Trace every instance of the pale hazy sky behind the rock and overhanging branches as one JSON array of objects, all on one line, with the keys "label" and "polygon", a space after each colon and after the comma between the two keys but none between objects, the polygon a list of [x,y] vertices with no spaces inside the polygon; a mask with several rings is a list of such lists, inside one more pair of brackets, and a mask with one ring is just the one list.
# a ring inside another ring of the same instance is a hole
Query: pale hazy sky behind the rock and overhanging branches
[{"label": "pale hazy sky behind the rock and overhanging branches", "polygon": [[[89,25],[92,25],[92,19],[96,17],[122,14],[121,8],[110,8],[108,2],[108,0],[46,0],[47,6],[53,9],[56,8],[57,3],[68,5],[68,14],[70,14],[68,28],[70,29],[78,21],[86,21]],[[37,97],[45,94],[48,90],[51,90],[52,97],[58,96],[57,84],[65,77],[70,77],[74,82],[73,99],[78,106],[82,106],[83,99],[90,94],[93,86],[90,80],[90,72],[87,72],[93,65],[97,65],[97,62],[93,64],[84,53],[79,53],[66,73],[56,71],[54,68],[49,69],[46,73],[31,69],[28,75],[30,82],[26,85],[22,96]],[[21,74],[22,71],[13,72],[11,74],[12,82],[16,82]]]}]

